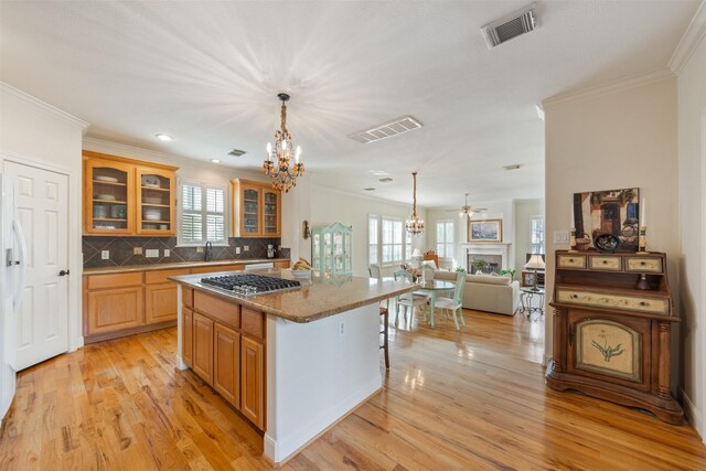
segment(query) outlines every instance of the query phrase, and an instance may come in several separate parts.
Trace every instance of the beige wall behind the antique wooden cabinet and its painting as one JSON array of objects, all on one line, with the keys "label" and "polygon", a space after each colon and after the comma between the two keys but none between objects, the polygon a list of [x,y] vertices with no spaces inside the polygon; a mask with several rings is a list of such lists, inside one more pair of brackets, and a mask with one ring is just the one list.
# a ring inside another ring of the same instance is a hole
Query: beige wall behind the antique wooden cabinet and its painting
[{"label": "beige wall behind the antique wooden cabinet and its painting", "polygon": [[[611,84],[589,94],[548,99],[544,108],[547,292],[554,286],[553,254],[568,248],[554,244],[553,234],[569,229],[571,195],[638,186],[649,206],[648,249],[666,253],[676,296],[681,258],[676,78],[671,73],[653,74],[624,86]],[[547,356],[552,356],[552,327],[546,322]]]}]

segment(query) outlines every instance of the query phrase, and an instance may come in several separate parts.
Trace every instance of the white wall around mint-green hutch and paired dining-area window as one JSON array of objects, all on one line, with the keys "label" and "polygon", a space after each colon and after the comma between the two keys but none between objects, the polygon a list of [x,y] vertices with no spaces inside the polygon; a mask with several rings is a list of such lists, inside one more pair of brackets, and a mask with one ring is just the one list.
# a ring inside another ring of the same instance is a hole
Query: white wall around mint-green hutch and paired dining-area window
[{"label": "white wall around mint-green hutch and paired dining-area window", "polygon": [[[353,227],[353,275],[367,277],[367,215],[377,214],[395,216],[403,221],[411,214],[411,204],[392,203],[373,197],[357,196],[336,190],[311,186],[311,226],[331,223],[343,223]],[[425,232],[420,237],[413,237],[413,249],[425,251],[427,234],[432,226],[427,221],[426,211],[417,206],[419,217],[425,221]],[[311,239],[307,240],[310,243]],[[386,275],[391,274],[386,270]]]}]

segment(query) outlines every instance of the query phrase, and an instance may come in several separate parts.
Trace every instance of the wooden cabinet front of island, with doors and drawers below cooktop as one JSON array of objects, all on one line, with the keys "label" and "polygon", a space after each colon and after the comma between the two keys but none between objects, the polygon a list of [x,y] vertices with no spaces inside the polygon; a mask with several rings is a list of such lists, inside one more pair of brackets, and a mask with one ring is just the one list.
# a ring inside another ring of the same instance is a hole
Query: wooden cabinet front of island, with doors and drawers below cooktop
[{"label": "wooden cabinet front of island, with doors and drawers below cooktop", "polygon": [[264,430],[265,313],[191,288],[182,301],[182,360]]}]

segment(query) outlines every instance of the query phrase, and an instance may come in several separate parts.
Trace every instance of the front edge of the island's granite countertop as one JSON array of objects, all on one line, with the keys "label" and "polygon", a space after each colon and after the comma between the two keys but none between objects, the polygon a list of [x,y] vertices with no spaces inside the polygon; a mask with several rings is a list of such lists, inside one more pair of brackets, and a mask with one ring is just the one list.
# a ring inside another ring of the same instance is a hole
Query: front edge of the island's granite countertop
[{"label": "front edge of the island's granite countertop", "polygon": [[[395,288],[394,290],[385,291],[384,293],[373,295],[370,298],[366,298],[364,300],[351,301],[351,302],[347,302],[345,304],[340,304],[340,306],[334,306],[334,307],[329,308],[329,309],[318,310],[318,311],[312,312],[311,314],[309,314],[307,317],[299,317],[299,315],[289,314],[288,312],[281,311],[279,309],[274,309],[274,308],[270,308],[268,306],[264,306],[264,304],[260,304],[258,302],[254,302],[252,299],[256,299],[256,298],[248,299],[248,298],[242,298],[242,297],[234,297],[234,296],[229,296],[227,293],[220,292],[220,291],[214,290],[214,289],[205,288],[205,287],[203,287],[201,285],[193,283],[191,281],[188,281],[188,280],[183,279],[183,278],[186,278],[186,277],[190,277],[190,275],[169,277],[169,279],[172,280],[172,281],[176,281],[180,285],[186,286],[189,288],[193,288],[193,289],[196,289],[199,291],[206,292],[206,293],[208,293],[211,296],[215,296],[216,298],[223,299],[225,301],[238,302],[238,303],[240,303],[240,304],[243,304],[243,306],[245,306],[247,308],[257,309],[257,310],[259,310],[261,312],[265,312],[267,314],[272,314],[272,315],[275,315],[277,318],[282,318],[282,319],[286,319],[288,321],[300,323],[300,324],[318,321],[319,319],[324,319],[324,318],[328,318],[328,317],[331,317],[331,315],[340,314],[341,312],[350,311],[351,309],[361,308],[363,306],[374,304],[375,302],[384,301],[385,299],[394,298],[396,296],[404,295],[405,292],[411,292],[411,291],[414,291],[415,289],[418,288],[418,286],[416,286],[416,285],[400,286],[398,288]],[[272,295],[277,295],[277,292],[275,292]]]}]

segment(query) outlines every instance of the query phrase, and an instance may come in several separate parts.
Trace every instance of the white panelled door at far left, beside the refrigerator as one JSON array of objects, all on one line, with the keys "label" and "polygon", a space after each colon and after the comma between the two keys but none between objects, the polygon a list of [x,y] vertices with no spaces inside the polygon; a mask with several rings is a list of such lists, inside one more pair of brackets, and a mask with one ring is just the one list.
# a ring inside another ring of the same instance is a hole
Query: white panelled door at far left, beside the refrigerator
[{"label": "white panelled door at far left, beside the refrigerator", "polygon": [[18,370],[68,351],[68,178],[4,162],[26,239],[26,281],[17,313]]}]

